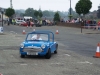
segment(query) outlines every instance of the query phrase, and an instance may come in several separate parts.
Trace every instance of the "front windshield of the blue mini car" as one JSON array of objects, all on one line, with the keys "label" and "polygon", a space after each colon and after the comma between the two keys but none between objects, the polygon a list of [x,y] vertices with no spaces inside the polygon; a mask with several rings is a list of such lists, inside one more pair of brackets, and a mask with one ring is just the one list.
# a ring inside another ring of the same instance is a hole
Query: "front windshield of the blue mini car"
[{"label": "front windshield of the blue mini car", "polygon": [[28,34],[28,41],[48,41],[48,34]]}]

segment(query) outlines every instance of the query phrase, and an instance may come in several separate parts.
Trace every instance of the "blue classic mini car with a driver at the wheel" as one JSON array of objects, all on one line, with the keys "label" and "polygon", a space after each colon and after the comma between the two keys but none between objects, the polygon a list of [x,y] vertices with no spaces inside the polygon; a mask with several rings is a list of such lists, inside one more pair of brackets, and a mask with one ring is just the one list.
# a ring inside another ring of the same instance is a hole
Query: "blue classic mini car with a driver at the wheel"
[{"label": "blue classic mini car with a driver at the wheel", "polygon": [[57,54],[58,43],[54,42],[54,33],[51,31],[33,31],[28,33],[20,45],[20,57],[30,55],[45,56],[50,59],[51,54]]}]

